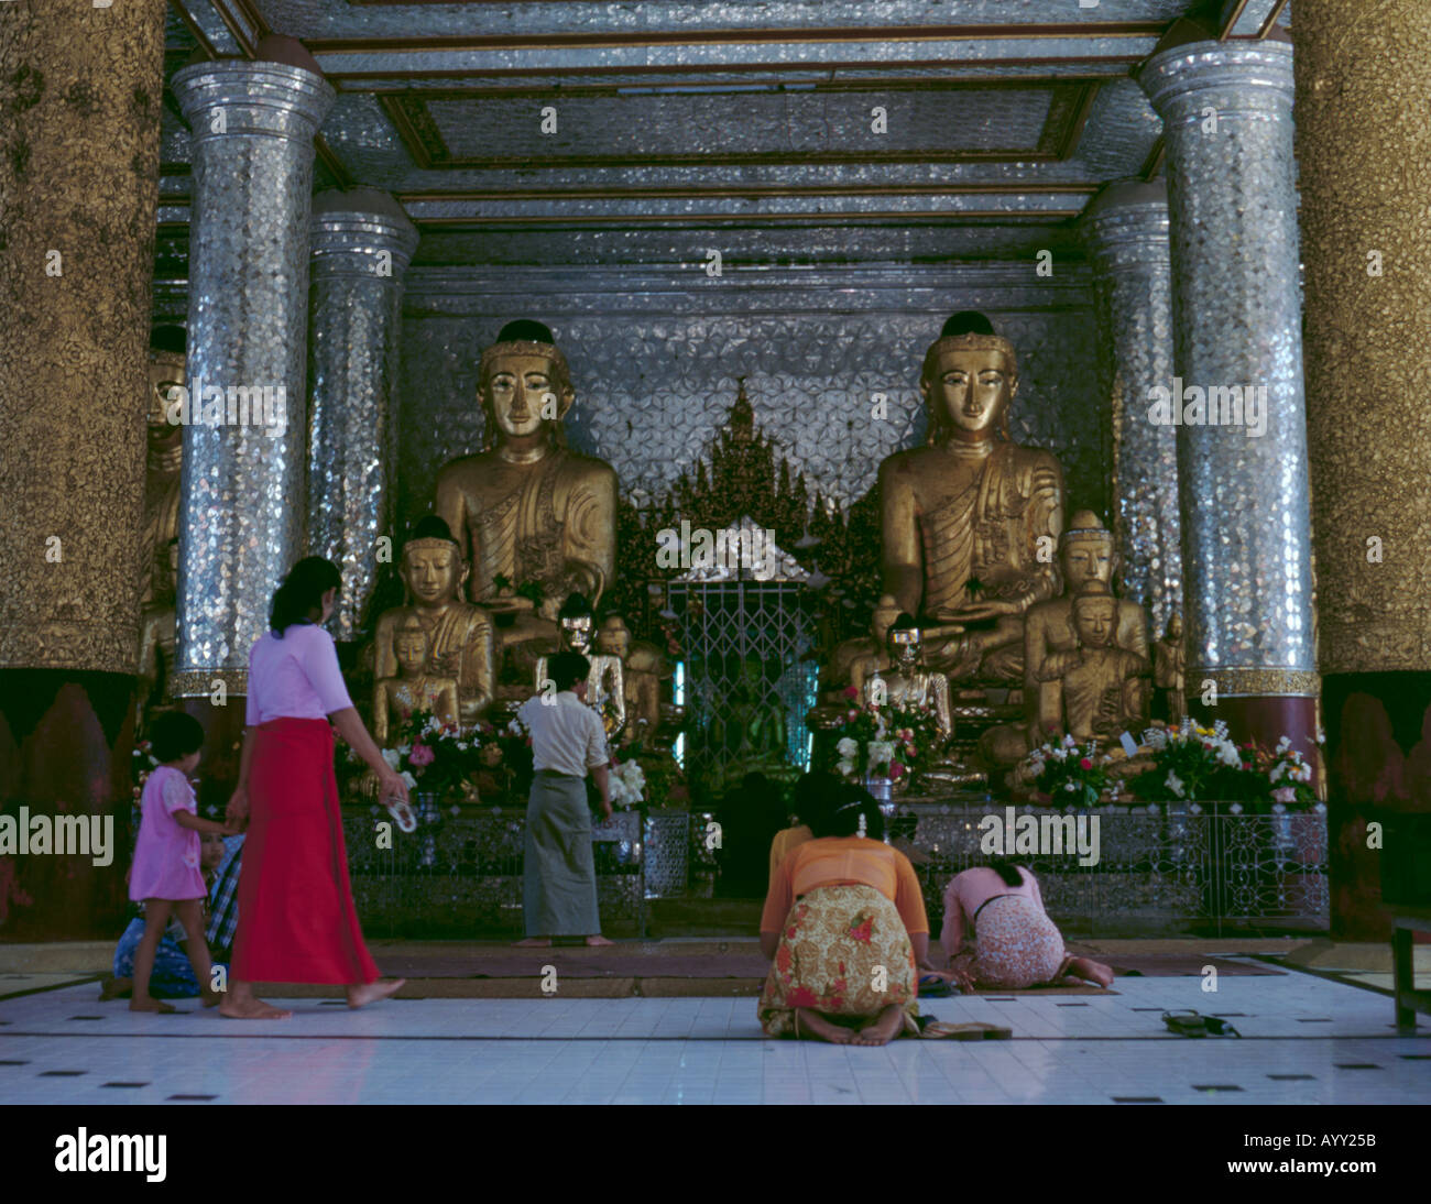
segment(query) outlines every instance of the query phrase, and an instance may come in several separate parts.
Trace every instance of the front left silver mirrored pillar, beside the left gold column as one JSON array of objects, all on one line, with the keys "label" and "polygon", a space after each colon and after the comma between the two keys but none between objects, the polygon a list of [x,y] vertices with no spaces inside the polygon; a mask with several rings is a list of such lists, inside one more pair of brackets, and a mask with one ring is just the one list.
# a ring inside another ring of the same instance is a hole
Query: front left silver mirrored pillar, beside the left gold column
[{"label": "front left silver mirrored pillar, beside the left gold column", "polygon": [[316,64],[219,60],[173,92],[193,129],[173,696],[242,695],[303,546],[313,134],[333,90]]}]

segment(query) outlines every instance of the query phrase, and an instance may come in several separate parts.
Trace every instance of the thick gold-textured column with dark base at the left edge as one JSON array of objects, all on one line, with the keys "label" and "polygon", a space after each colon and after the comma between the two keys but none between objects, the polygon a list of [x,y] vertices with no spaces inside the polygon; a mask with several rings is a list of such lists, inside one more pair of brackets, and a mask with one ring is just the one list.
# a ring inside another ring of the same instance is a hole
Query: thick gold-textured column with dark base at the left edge
[{"label": "thick gold-textured column with dark base at the left edge", "polygon": [[[0,805],[109,812],[139,658],[163,0],[0,4]],[[127,847],[0,858],[0,934],[107,932]]]}]

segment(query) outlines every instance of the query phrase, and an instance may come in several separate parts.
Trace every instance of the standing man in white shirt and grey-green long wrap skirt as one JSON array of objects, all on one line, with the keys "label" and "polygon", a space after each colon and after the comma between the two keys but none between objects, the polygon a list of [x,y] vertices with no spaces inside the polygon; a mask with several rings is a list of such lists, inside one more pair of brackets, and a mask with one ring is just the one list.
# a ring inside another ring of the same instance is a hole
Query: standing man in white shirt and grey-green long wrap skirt
[{"label": "standing man in white shirt and grey-green long wrap skirt", "polygon": [[591,851],[587,772],[601,789],[601,811],[611,818],[610,752],[601,716],[584,702],[591,662],[580,652],[558,652],[547,665],[551,681],[528,698],[517,718],[532,734],[532,792],[527,805],[522,914],[527,939],[550,945],[552,937],[585,937],[610,945],[597,909],[597,867]]}]

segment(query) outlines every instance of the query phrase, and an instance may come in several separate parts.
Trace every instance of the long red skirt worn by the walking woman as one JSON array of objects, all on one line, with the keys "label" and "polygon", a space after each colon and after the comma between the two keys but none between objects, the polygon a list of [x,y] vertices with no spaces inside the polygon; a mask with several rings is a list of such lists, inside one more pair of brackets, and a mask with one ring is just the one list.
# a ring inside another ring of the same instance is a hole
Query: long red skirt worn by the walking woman
[{"label": "long red skirt worn by the walking woman", "polygon": [[233,978],[375,982],[343,847],[333,732],[279,718],[253,731]]}]

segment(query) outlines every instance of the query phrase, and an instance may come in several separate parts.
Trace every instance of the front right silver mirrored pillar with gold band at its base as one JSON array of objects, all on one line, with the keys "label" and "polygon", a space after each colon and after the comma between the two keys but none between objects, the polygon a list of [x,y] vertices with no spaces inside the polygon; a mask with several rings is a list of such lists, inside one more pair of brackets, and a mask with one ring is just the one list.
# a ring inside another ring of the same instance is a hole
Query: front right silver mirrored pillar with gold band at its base
[{"label": "front right silver mirrored pillar with gold band at its base", "polygon": [[1236,739],[1286,734],[1311,756],[1292,47],[1183,43],[1149,59],[1139,83],[1168,146],[1189,709],[1226,719]]}]

